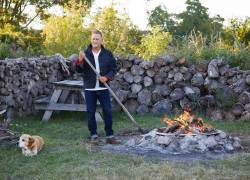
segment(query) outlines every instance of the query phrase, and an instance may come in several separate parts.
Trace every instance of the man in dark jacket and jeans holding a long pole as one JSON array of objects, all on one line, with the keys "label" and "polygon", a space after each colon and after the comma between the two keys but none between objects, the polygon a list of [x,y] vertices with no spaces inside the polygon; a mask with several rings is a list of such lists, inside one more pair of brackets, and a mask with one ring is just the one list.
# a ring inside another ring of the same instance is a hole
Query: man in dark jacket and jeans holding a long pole
[{"label": "man in dark jacket and jeans holding a long pole", "polygon": [[[92,143],[98,143],[97,124],[95,119],[97,99],[99,100],[104,116],[106,142],[109,144],[119,143],[113,135],[112,129],[112,111],[111,101],[108,89],[104,86],[104,82],[108,83],[112,80],[116,73],[116,61],[113,54],[105,49],[102,45],[102,33],[93,30],[91,35],[91,44],[83,52],[80,51],[79,58],[76,62],[76,70],[83,73],[85,99],[88,115],[88,129],[90,131],[90,139]],[[95,72],[91,69],[87,62],[84,61],[84,54],[100,74],[97,79]]]}]

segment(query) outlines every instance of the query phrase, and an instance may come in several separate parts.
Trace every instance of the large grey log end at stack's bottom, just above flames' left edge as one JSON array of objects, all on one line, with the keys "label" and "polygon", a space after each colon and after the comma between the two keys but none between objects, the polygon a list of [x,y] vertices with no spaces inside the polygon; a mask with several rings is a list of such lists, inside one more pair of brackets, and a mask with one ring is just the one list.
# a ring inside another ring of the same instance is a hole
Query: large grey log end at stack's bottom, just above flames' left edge
[{"label": "large grey log end at stack's bottom, just above flames' left edge", "polygon": [[154,104],[152,112],[171,114],[172,108],[172,103],[168,99],[164,99]]}]

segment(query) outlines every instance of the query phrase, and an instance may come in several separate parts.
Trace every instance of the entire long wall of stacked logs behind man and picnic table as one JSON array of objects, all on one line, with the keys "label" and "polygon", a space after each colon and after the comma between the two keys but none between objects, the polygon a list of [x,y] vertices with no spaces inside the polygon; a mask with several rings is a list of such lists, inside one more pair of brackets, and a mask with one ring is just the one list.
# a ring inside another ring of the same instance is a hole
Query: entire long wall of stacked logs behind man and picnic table
[{"label": "entire long wall of stacked logs behind man and picnic table", "polygon": [[[60,58],[0,61],[0,106],[7,103],[19,115],[35,113],[34,101],[52,93],[50,82],[72,78],[63,72]],[[222,59],[192,65],[169,55],[152,61],[119,56],[117,65],[110,86],[131,112],[171,114],[190,107],[212,119],[250,117],[250,71]],[[114,101],[113,108],[120,110]]]}]

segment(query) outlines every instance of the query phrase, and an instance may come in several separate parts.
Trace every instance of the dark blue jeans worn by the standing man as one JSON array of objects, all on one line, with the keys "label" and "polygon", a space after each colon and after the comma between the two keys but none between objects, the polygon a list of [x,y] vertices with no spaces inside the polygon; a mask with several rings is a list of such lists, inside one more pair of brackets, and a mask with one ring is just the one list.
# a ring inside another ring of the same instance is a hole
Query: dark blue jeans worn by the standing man
[{"label": "dark blue jeans worn by the standing man", "polygon": [[108,90],[99,90],[99,91],[89,91],[85,90],[85,99],[87,104],[87,113],[88,113],[88,128],[90,131],[90,135],[97,134],[97,125],[95,119],[95,112],[96,112],[96,104],[97,99],[99,100],[103,116],[104,116],[104,123],[105,123],[105,132],[106,136],[112,136],[112,108],[111,108],[111,101],[110,95]]}]

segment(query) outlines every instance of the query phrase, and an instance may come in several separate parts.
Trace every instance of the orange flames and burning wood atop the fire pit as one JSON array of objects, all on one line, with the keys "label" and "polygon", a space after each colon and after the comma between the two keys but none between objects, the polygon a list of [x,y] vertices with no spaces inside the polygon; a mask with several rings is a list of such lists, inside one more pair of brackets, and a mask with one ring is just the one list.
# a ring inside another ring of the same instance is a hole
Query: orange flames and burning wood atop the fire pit
[{"label": "orange flames and burning wood atop the fire pit", "polygon": [[201,117],[191,115],[187,110],[173,119],[164,115],[162,117],[162,122],[166,123],[167,127],[171,127],[177,122],[178,126],[176,126],[176,130],[181,130],[181,132],[185,134],[204,133],[208,129],[212,129],[212,126],[205,124]]}]

